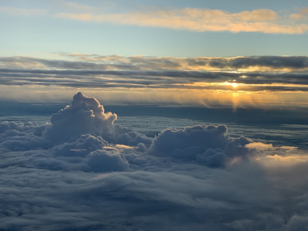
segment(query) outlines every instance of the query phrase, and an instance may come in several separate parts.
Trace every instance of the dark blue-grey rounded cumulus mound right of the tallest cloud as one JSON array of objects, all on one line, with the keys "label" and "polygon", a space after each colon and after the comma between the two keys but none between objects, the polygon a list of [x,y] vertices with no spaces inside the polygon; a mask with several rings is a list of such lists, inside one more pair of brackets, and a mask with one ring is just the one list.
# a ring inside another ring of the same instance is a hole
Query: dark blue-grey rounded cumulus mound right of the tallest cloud
[{"label": "dark blue-grey rounded cumulus mound right of the tallest cloud", "polygon": [[230,138],[225,125],[196,125],[184,130],[169,128],[158,134],[148,152],[160,157],[196,161],[210,167],[222,167],[234,157],[254,155],[245,147],[250,139]]}]

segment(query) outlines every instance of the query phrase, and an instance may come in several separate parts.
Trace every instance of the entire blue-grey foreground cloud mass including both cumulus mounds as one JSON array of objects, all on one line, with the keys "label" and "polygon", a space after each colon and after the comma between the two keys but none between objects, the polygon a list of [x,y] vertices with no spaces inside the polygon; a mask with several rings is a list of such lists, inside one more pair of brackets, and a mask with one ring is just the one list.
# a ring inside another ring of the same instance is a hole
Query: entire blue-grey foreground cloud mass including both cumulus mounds
[{"label": "entire blue-grey foreground cloud mass including both cumulus mounds", "polygon": [[116,119],[79,92],[50,123],[1,123],[0,230],[306,229],[306,162],[225,125],[152,139]]}]

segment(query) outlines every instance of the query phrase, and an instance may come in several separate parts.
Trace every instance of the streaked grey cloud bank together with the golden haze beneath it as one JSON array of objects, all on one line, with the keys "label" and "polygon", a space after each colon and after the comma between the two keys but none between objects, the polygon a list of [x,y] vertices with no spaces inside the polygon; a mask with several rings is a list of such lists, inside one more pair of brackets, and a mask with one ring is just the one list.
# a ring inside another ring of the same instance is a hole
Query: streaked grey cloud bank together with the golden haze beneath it
[{"label": "streaked grey cloud bank together with the golden haze beneath it", "polygon": [[[48,98],[49,94],[56,99],[65,98],[66,93],[61,91],[66,91],[70,92],[69,98],[77,90],[98,92],[102,98],[114,101],[219,103],[234,108],[269,102],[308,103],[305,73],[308,56],[177,58],[78,53],[60,56],[68,60],[4,58],[0,64],[6,67],[1,73],[5,84],[0,96],[40,99],[44,95]],[[265,64],[272,71],[254,71]],[[207,67],[215,70],[207,71]],[[278,67],[293,71],[273,71]]]}]

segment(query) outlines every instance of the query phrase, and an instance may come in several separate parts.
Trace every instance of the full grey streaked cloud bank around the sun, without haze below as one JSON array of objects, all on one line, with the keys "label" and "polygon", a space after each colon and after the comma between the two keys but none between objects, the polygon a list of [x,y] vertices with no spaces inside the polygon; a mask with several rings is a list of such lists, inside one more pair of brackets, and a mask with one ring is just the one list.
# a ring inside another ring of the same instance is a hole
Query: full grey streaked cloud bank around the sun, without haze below
[{"label": "full grey streaked cloud bank around the sun, without haze below", "polygon": [[[306,56],[236,58],[98,56],[95,58],[86,55],[82,57],[88,60],[2,57],[0,59],[1,84],[239,91],[307,91],[308,84]],[[256,69],[260,71],[253,71]],[[76,79],[78,81],[75,81]],[[238,86],[235,89],[228,85],[198,85],[200,82],[232,83],[233,80],[239,84],[252,86]],[[266,86],[256,84],[266,84]],[[294,86],[288,86],[288,84]]]}]

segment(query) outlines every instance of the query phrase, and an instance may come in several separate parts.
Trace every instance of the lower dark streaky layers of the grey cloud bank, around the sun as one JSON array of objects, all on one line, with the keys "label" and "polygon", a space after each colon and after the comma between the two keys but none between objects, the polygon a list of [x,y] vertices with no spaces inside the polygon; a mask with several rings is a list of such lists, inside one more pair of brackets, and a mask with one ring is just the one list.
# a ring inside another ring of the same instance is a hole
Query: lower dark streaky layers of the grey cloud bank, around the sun
[{"label": "lower dark streaky layers of the grey cloud bank, around the sun", "polygon": [[[9,73],[6,73],[6,72]],[[27,75],[15,75],[14,72],[26,72]],[[33,74],[32,74],[33,72]],[[40,75],[39,73],[42,73]],[[34,76],[32,76],[34,75]],[[94,76],[93,76],[94,75]],[[97,75],[95,77],[95,75]],[[104,78],[99,77],[103,75]],[[107,75],[107,76],[106,76]],[[118,79],[118,77],[123,79]],[[153,77],[154,76],[154,77]],[[243,78],[243,76],[245,78]],[[307,74],[302,73],[229,73],[206,71],[61,71],[61,70],[13,70],[0,69],[2,85],[41,85],[87,88],[181,88],[181,89],[213,89],[241,91],[307,91]],[[78,81],[75,81],[78,79]],[[251,84],[238,86],[236,89],[223,83]],[[198,85],[199,82],[222,83],[222,85]],[[194,85],[187,85],[196,83]],[[273,84],[258,86],[254,84]],[[295,86],[284,86],[295,84]],[[296,86],[299,85],[299,86]]]}]

